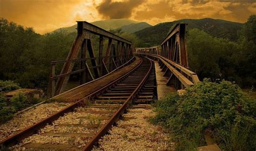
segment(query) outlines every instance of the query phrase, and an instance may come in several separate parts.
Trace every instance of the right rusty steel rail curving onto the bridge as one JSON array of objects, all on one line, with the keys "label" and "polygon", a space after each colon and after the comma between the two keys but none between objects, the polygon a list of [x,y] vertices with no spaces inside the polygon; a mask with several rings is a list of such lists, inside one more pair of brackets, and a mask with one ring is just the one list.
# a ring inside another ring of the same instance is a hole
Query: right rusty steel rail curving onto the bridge
[{"label": "right rusty steel rail curving onto the bridge", "polygon": [[102,138],[102,136],[104,136],[107,133],[107,131],[109,131],[111,129],[112,125],[120,118],[120,116],[122,116],[122,114],[125,112],[125,110],[130,106],[130,104],[132,103],[133,98],[136,97],[140,88],[142,88],[142,86],[145,83],[147,77],[149,77],[149,75],[151,73],[152,61],[151,60],[149,60],[149,61],[151,63],[149,71],[147,71],[147,74],[145,75],[143,80],[139,83],[138,87],[132,92],[132,94],[129,96],[129,98],[127,98],[125,100],[123,105],[116,111],[116,113],[113,114],[111,119],[109,121],[107,121],[107,123],[102,128],[100,128],[100,130],[97,132],[97,134],[95,136],[93,136],[93,138],[90,140],[90,142],[88,142],[86,144],[86,146],[82,148],[82,150],[91,150],[93,148],[93,146],[98,142],[98,140],[100,138]]}]

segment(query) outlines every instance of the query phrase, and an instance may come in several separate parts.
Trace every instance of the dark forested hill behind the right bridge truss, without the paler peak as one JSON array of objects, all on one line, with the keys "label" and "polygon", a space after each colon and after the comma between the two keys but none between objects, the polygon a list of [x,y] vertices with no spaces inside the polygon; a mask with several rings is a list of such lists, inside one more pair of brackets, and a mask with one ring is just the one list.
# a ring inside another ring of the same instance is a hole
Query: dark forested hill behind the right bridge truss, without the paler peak
[{"label": "dark forested hill behind the right bridge truss, without the paler peak", "polygon": [[221,19],[181,19],[147,27],[136,32],[135,34],[145,43],[144,46],[159,45],[166,37],[167,33],[169,33],[170,28],[177,23],[187,23],[188,31],[193,28],[198,28],[199,30],[203,30],[213,37],[227,38],[232,41],[238,39],[237,32],[242,28],[241,23],[234,23],[232,21]]}]

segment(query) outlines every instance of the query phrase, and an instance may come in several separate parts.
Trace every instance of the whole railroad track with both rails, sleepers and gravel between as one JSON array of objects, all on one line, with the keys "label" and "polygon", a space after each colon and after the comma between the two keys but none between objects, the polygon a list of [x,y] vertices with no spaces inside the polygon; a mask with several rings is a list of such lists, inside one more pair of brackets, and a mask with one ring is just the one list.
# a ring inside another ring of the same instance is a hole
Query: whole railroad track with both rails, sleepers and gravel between
[{"label": "whole railroad track with both rails, sleepers and gravel between", "polygon": [[156,99],[153,63],[140,60],[116,81],[0,143],[12,149],[91,150],[128,107]]}]

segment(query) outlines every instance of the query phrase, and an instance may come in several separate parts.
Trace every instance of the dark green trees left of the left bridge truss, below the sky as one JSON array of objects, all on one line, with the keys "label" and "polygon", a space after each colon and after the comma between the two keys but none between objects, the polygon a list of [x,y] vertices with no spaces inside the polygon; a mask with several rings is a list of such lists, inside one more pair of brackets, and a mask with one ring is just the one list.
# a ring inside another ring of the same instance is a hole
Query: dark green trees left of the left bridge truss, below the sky
[{"label": "dark green trees left of the left bridge truss, below the sky", "polygon": [[66,58],[76,33],[60,30],[40,35],[0,18],[0,35],[0,79],[46,89],[50,62]]}]

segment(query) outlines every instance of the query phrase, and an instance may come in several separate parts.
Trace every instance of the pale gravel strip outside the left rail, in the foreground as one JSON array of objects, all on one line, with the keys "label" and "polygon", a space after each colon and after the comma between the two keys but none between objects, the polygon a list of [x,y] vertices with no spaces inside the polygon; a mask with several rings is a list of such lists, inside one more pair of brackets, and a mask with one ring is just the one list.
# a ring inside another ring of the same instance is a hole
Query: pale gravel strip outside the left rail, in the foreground
[{"label": "pale gravel strip outside the left rail, in the foreground", "polygon": [[8,122],[0,125],[0,141],[50,116],[67,105],[69,103],[46,103],[16,115]]}]

